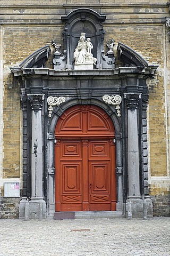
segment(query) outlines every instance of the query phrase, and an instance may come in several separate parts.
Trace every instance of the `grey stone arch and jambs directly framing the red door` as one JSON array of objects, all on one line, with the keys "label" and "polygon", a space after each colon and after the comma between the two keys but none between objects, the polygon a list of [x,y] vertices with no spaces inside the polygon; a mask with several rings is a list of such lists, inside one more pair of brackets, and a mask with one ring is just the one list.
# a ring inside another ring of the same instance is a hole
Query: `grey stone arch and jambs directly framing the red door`
[{"label": "grey stone arch and jambs directly framing the red door", "polygon": [[[78,99],[70,99],[60,105],[60,107],[54,108],[54,114],[49,122],[49,133],[48,133],[48,198],[47,198],[47,215],[54,215],[55,212],[55,165],[54,165],[54,142],[55,142],[55,127],[58,119],[62,116],[66,109],[71,108],[75,105],[87,105],[83,102],[79,102]],[[99,99],[91,99],[88,101],[88,105],[96,105],[103,109],[106,114],[111,118],[115,127],[115,143],[116,143],[116,191],[117,191],[117,204],[116,211],[124,213],[123,204],[123,161],[122,161],[122,138],[121,138],[121,123],[116,115],[115,107],[106,105]]]}]

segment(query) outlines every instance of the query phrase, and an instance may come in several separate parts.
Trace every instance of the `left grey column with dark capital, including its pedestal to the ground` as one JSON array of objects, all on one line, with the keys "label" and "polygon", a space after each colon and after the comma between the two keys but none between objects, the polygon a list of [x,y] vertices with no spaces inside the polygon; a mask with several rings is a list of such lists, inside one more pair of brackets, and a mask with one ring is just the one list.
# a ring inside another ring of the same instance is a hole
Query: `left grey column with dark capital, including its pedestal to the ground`
[{"label": "left grey column with dark capital, including its pedestal to the ground", "polygon": [[45,219],[46,203],[43,199],[43,148],[42,121],[44,94],[28,94],[32,109],[31,143],[31,201],[29,201],[29,219]]}]

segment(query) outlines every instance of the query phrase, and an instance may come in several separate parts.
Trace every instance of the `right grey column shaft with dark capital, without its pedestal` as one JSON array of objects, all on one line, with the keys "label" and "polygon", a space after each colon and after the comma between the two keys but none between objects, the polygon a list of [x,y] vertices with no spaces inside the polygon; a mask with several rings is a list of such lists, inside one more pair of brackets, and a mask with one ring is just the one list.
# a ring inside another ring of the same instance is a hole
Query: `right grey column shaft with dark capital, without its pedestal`
[{"label": "right grey column shaft with dark capital, without its pedestal", "polygon": [[139,180],[139,142],[137,108],[140,93],[125,93],[126,106],[128,107],[128,183],[129,199],[140,197]]}]

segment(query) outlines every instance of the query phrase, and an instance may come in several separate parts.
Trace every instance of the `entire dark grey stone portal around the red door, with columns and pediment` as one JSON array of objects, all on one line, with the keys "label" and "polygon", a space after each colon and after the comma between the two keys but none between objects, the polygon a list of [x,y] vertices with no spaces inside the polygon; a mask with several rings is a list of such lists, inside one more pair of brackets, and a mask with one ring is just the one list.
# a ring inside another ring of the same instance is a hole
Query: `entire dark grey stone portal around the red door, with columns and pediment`
[{"label": "entire dark grey stone portal around the red door, with columns and pediment", "polygon": [[[106,17],[90,9],[78,9],[62,18],[66,22],[64,31],[67,29],[70,34],[64,34],[66,58],[61,57],[60,53],[54,55],[54,65],[60,63],[61,68],[44,67],[50,53],[49,45],[31,54],[20,66],[11,67],[12,73],[21,84],[23,110],[23,196],[20,202],[22,219],[45,219],[54,216],[54,131],[58,118],[74,105],[98,106],[114,124],[116,210],[129,218],[131,215],[139,218],[143,217],[143,209],[146,209],[148,216],[152,216],[146,175],[146,79],[154,75],[157,66],[148,65],[130,47],[118,43],[117,51],[122,66],[115,68],[113,53],[112,56],[106,54],[104,58],[103,49],[97,48],[94,55],[97,57],[97,67],[93,70],[74,70],[69,59],[73,56],[73,49],[69,46],[70,35],[73,33],[72,28],[83,22],[84,13],[87,14],[86,21],[92,23],[94,31],[96,29],[99,33],[100,30],[100,36],[98,39],[94,38],[94,42],[99,40],[97,45],[102,48],[104,33],[101,33],[101,22]],[[85,32],[88,34],[88,31]],[[77,37],[74,35],[74,39]],[[108,58],[111,59],[110,62]],[[116,95],[121,98],[121,102],[116,103]],[[49,101],[49,97],[52,101]]]}]

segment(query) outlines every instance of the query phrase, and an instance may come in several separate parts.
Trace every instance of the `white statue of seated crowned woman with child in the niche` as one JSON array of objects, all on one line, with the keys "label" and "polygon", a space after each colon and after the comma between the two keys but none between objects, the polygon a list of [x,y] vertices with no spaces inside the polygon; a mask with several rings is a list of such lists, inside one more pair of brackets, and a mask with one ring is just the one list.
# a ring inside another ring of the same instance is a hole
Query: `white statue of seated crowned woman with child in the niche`
[{"label": "white statue of seated crowned woman with child in the niche", "polygon": [[91,53],[94,46],[90,38],[87,38],[87,41],[85,40],[85,34],[81,33],[80,40],[74,51],[75,70],[94,69],[94,65],[96,65],[97,59]]}]

